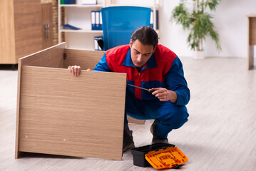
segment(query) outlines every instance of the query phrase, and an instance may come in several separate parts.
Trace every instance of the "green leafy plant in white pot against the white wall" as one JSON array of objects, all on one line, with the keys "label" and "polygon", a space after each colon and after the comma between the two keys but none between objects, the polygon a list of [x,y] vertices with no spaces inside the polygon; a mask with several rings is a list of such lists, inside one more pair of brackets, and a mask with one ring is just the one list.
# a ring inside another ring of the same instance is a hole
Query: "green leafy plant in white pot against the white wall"
[{"label": "green leafy plant in white pot against the white wall", "polygon": [[214,30],[212,21],[213,17],[206,12],[207,9],[215,11],[220,0],[192,0],[193,10],[186,6],[187,0],[180,0],[180,4],[173,9],[171,20],[176,24],[181,24],[183,29],[188,29],[188,44],[194,51],[193,58],[204,58],[203,40],[210,36],[216,43],[217,50],[221,50],[219,34]]}]

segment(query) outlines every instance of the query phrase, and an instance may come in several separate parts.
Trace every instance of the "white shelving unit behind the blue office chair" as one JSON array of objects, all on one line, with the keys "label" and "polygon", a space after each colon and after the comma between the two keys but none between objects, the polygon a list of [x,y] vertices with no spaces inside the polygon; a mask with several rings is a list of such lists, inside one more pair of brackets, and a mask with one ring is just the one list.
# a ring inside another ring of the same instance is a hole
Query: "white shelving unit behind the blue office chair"
[{"label": "white shelving unit behind the blue office chair", "polygon": [[[82,5],[81,0],[76,0],[76,4],[61,4],[58,0],[58,43],[61,43],[64,33],[66,48],[94,50],[94,36],[103,36],[102,30],[91,30],[91,11],[101,11],[101,8],[107,6],[145,6],[151,8],[154,12],[154,25],[156,29],[156,10],[159,10],[160,0],[97,0],[96,5]],[[62,16],[64,10],[64,16]],[[81,28],[81,30],[71,30],[61,28],[61,20],[65,24],[71,24]],[[159,19],[158,19],[159,20]],[[159,21],[158,21],[159,22]]]}]

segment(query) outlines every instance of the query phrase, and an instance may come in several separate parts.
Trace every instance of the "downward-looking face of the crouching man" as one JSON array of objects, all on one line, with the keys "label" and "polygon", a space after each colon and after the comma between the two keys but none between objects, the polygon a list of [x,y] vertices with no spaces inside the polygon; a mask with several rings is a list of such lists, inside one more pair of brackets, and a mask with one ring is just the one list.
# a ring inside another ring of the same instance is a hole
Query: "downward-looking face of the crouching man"
[{"label": "downward-looking face of the crouching man", "polygon": [[148,62],[150,56],[155,51],[153,45],[143,45],[139,40],[132,42],[130,40],[130,56],[133,65],[142,68]]}]

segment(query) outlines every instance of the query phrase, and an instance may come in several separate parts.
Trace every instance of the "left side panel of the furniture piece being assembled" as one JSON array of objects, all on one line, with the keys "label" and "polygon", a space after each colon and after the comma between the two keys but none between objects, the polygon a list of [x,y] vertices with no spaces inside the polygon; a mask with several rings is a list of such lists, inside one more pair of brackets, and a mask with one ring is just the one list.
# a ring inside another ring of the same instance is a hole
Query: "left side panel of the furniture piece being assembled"
[{"label": "left side panel of the furniture piece being assembled", "polygon": [[63,68],[63,51],[65,43],[47,48],[24,58],[19,59],[18,68],[18,90],[17,90],[17,111],[16,111],[16,148],[15,157],[19,157],[18,138],[19,138],[19,105],[21,93],[21,66],[46,66],[53,68]]}]

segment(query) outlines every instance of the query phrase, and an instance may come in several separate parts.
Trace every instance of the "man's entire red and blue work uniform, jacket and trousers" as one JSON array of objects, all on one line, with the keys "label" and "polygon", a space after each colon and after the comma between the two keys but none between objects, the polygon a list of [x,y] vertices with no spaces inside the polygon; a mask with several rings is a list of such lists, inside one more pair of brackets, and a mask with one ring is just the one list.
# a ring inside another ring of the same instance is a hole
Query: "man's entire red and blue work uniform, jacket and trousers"
[{"label": "man's entire red and blue work uniform, jacket and trousers", "polygon": [[139,120],[155,119],[158,138],[167,138],[173,129],[188,121],[185,107],[190,100],[190,90],[184,78],[183,65],[178,56],[165,46],[156,46],[154,53],[141,71],[133,65],[130,46],[111,48],[104,53],[93,71],[127,73],[127,83],[142,88],[166,88],[177,93],[177,102],[160,101],[147,90],[126,87],[126,115]]}]

